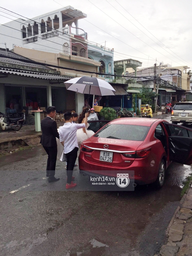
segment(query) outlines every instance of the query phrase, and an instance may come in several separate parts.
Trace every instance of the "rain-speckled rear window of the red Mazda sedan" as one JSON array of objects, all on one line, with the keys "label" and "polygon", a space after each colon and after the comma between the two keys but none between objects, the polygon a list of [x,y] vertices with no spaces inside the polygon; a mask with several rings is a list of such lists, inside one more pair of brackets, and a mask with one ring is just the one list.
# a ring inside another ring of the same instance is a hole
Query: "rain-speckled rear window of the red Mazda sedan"
[{"label": "rain-speckled rear window of the red Mazda sedan", "polygon": [[143,141],[149,131],[149,126],[131,124],[107,124],[94,137],[117,140]]}]

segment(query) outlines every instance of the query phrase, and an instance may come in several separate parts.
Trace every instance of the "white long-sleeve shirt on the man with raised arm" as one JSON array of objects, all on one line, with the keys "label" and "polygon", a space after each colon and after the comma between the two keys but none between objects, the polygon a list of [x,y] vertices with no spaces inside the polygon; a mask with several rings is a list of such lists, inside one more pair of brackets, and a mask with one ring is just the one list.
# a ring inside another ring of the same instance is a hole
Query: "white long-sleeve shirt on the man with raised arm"
[{"label": "white long-sleeve shirt on the man with raised arm", "polygon": [[65,123],[59,128],[59,139],[60,142],[64,141],[64,153],[67,154],[71,152],[75,147],[78,147],[77,143],[77,130],[84,128],[86,125]]}]

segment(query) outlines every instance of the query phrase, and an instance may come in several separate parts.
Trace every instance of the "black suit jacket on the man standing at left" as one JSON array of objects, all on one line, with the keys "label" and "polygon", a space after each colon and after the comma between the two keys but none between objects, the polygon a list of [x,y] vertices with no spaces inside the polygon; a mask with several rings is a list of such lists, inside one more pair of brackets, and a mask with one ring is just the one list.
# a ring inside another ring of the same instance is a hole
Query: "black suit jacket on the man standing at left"
[{"label": "black suit jacket on the man standing at left", "polygon": [[45,117],[41,121],[42,137],[40,143],[44,147],[56,147],[56,137],[59,139],[59,133],[57,131],[57,123],[50,117]]}]

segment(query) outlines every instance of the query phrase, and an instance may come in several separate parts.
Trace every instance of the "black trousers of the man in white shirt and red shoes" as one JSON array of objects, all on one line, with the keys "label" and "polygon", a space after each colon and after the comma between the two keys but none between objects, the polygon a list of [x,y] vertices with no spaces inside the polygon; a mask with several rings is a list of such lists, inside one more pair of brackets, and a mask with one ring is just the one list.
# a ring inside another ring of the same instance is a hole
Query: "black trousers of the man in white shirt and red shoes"
[{"label": "black trousers of the man in white shirt and red shoes", "polygon": [[73,168],[77,159],[77,152],[79,148],[75,147],[71,152],[66,154],[67,158],[67,183],[71,184],[71,178],[73,175]]}]

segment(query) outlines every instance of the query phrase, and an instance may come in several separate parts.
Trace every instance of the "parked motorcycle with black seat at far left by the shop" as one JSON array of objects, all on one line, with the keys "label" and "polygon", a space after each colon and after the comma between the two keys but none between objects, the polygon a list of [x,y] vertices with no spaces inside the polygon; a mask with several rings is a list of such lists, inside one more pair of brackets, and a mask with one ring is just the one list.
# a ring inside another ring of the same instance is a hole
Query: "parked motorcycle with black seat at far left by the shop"
[{"label": "parked motorcycle with black seat at far left by the shop", "polygon": [[[6,118],[7,121],[4,121],[4,118]],[[9,118],[0,112],[0,125],[2,130],[13,129],[14,131],[19,131],[24,121],[24,116]]]}]

